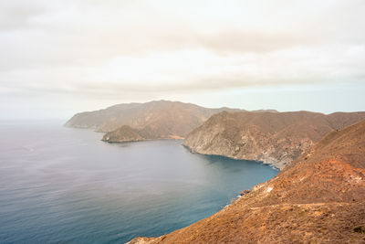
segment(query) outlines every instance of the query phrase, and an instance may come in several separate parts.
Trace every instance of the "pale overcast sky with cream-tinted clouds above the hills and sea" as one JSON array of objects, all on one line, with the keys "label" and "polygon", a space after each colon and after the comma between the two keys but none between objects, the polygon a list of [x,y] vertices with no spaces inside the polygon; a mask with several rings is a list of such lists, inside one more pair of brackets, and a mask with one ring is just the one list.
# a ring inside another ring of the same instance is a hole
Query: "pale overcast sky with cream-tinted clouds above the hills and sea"
[{"label": "pale overcast sky with cream-tinted clouds above the hills and sea", "polygon": [[0,1],[0,119],[125,102],[365,111],[363,0]]}]

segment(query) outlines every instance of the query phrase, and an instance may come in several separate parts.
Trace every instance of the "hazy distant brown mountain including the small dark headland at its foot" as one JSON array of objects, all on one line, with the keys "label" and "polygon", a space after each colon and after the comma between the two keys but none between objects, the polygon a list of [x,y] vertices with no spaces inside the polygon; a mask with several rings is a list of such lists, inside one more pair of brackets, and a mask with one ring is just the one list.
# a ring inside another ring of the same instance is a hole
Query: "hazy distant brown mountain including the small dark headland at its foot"
[{"label": "hazy distant brown mountain including the small dark headland at its foot", "polygon": [[99,111],[80,112],[65,125],[107,132],[108,134],[103,137],[107,142],[135,141],[137,138],[139,140],[182,138],[220,111],[240,110],[208,109],[180,101],[150,101],[119,104]]}]

